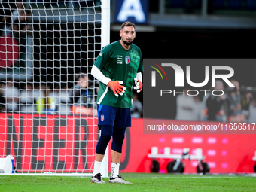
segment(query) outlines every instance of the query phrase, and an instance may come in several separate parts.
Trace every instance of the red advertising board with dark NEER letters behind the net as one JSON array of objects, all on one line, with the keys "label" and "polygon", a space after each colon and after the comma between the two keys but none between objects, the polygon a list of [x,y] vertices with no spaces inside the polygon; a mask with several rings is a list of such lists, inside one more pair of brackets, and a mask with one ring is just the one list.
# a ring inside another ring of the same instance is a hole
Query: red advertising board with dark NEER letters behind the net
[{"label": "red advertising board with dark NEER letters behind the net", "polygon": [[18,171],[93,169],[99,136],[95,117],[0,114],[0,157],[14,156]]}]

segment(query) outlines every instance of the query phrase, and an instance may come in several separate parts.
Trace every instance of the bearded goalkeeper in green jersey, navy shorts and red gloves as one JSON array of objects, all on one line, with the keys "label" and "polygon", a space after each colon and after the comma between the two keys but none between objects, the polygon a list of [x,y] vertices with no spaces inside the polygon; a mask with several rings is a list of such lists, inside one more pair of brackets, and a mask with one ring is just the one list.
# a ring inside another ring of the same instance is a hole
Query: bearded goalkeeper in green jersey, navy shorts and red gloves
[{"label": "bearded goalkeeper in green jersey, navy shorts and red gloves", "polygon": [[142,52],[133,44],[135,36],[134,23],[123,23],[120,41],[102,48],[91,71],[94,78],[99,80],[97,107],[98,126],[101,130],[91,178],[94,183],[105,183],[100,171],[105,150],[112,137],[109,182],[132,184],[120,177],[119,166],[125,130],[131,126],[133,84],[138,93],[142,90]]}]

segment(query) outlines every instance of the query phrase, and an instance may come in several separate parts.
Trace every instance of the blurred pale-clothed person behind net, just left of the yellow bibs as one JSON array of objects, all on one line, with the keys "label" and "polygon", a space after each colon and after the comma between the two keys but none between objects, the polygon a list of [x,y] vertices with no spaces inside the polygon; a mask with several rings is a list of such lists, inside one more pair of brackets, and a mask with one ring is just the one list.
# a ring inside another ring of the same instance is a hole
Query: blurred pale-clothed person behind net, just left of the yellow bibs
[{"label": "blurred pale-clothed person behind net, just left of the yellow bibs", "polygon": [[35,111],[33,87],[31,83],[27,82],[23,90],[20,91],[20,112],[32,114]]}]

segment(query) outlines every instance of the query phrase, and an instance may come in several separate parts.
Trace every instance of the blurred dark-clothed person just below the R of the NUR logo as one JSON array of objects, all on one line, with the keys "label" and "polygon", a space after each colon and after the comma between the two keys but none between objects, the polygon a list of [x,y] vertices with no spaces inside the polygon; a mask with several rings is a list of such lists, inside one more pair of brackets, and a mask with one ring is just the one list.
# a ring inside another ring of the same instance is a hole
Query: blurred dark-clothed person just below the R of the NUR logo
[{"label": "blurred dark-clothed person just below the R of the NUR logo", "polygon": [[[212,90],[224,90],[222,81],[216,81],[216,86]],[[227,121],[227,96],[224,93],[222,96],[213,96],[212,93],[206,93],[203,98],[205,108],[205,120],[218,120],[221,122]]]}]

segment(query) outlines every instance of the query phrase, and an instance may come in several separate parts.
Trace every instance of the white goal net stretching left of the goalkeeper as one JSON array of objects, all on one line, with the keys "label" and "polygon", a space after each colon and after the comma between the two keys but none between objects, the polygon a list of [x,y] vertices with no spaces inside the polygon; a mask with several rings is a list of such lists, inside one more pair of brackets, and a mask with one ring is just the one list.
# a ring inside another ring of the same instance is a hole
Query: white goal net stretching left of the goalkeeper
[{"label": "white goal net stretching left of the goalkeeper", "polygon": [[98,82],[90,70],[109,43],[109,4],[0,0],[0,158],[13,156],[17,172],[93,172]]}]

